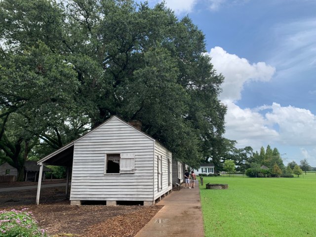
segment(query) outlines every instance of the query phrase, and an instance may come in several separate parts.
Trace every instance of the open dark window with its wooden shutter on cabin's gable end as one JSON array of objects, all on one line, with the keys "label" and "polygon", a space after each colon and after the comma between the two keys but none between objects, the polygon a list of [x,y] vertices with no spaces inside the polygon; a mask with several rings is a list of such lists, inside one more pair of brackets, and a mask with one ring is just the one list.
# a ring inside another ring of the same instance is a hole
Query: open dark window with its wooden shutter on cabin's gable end
[{"label": "open dark window with its wooden shutter on cabin's gable end", "polygon": [[135,154],[106,154],[105,174],[135,173]]}]

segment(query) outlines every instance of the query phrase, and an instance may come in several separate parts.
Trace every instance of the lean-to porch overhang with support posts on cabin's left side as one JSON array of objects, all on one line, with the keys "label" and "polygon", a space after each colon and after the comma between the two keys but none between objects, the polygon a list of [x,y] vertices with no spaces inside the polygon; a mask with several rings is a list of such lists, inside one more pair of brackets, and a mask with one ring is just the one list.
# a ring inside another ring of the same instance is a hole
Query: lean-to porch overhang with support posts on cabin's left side
[{"label": "lean-to porch overhang with support posts on cabin's left side", "polygon": [[75,142],[71,142],[67,144],[66,146],[60,148],[59,150],[49,154],[48,156],[38,161],[38,165],[40,165],[40,174],[39,174],[39,182],[38,182],[38,191],[36,195],[36,204],[40,203],[40,186],[41,186],[41,178],[43,174],[44,165],[65,166],[67,168],[66,196],[68,195],[69,174],[70,174],[70,169],[73,166],[73,160],[74,160],[74,145],[75,145]]}]

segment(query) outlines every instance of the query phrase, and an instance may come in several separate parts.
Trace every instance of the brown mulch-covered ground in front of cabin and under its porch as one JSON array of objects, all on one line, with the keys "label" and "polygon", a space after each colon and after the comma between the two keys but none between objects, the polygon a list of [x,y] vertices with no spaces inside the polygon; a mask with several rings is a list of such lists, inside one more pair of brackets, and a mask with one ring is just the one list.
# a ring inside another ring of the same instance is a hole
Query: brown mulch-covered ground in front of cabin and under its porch
[{"label": "brown mulch-covered ground in front of cabin and under its porch", "polygon": [[[45,181],[46,184],[54,181]],[[21,186],[22,183],[0,188]],[[24,183],[24,182],[23,182]],[[25,182],[23,186],[37,185]],[[56,183],[56,181],[55,181]],[[139,205],[82,205],[71,206],[66,199],[65,187],[44,188],[40,205],[36,189],[0,192],[0,210],[28,208],[40,228],[53,237],[133,237],[162,207]]]}]

